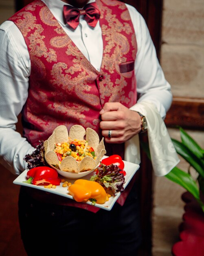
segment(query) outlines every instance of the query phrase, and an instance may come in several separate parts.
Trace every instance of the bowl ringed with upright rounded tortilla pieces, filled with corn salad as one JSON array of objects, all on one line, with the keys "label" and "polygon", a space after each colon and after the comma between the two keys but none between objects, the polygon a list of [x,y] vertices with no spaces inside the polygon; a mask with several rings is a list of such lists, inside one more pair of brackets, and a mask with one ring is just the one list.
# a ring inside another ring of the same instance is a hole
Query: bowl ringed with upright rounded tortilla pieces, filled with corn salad
[{"label": "bowl ringed with upright rounded tortilla pieces, filled with corn salad", "polygon": [[[64,153],[65,156],[60,153],[64,158],[59,159],[59,153],[56,152],[56,148],[62,144],[70,147],[74,143],[73,141],[83,141],[82,154],[80,151],[82,157],[79,159],[79,156],[77,156],[79,155],[77,152],[80,150],[79,146],[77,146],[79,150],[75,149],[75,152],[73,152],[72,149],[68,148],[69,151]],[[94,156],[90,153],[88,154],[90,148],[94,151]],[[55,128],[52,135],[44,141],[44,150],[46,162],[52,168],[55,168],[60,175],[69,179],[78,179],[94,171],[106,153],[103,139],[99,141],[97,132],[91,128],[86,128],[85,130],[80,125],[72,126],[69,132],[66,126],[63,125]],[[76,155],[76,157],[73,155]]]}]

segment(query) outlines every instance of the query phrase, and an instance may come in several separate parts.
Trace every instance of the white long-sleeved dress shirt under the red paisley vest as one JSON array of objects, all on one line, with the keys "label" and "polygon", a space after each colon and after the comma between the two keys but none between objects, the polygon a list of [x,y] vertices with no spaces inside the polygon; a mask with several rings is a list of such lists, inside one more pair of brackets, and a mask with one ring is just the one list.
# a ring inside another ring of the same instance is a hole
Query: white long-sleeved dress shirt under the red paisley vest
[{"label": "white long-sleeved dress shirt under the red paisley vest", "polygon": [[[53,13],[61,27],[73,40],[90,63],[100,70],[103,56],[103,40],[99,22],[89,27],[83,16],[79,26],[72,30],[64,23],[61,0],[42,0]],[[94,2],[90,0],[89,2]],[[135,74],[139,102],[154,103],[162,118],[171,106],[171,87],[166,81],[156,56],[147,25],[136,9],[126,4],[134,26],[138,52]],[[28,97],[31,62],[24,38],[12,21],[0,26],[0,162],[12,173],[18,175],[26,168],[24,156],[34,148],[15,131],[26,99]],[[134,110],[134,107],[132,108]]]}]

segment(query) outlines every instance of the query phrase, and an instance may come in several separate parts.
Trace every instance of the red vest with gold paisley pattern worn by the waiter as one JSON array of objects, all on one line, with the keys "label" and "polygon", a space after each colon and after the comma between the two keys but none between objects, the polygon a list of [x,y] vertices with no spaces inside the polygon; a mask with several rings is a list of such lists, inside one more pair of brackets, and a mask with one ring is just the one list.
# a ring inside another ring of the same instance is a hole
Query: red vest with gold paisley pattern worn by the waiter
[{"label": "red vest with gold paisley pattern worn by the waiter", "polygon": [[74,124],[90,127],[101,137],[99,111],[105,102],[121,102],[127,108],[136,103],[137,44],[129,12],[123,2],[96,2],[103,37],[100,71],[83,56],[42,1],[35,0],[9,18],[22,32],[31,59],[22,117],[24,137],[33,146],[62,124],[68,130]]}]

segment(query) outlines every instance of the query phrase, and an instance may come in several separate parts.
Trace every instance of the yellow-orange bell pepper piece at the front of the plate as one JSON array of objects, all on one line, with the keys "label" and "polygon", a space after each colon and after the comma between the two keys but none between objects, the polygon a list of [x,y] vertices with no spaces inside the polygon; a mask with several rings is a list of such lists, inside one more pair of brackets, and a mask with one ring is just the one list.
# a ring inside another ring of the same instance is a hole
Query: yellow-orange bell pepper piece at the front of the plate
[{"label": "yellow-orange bell pepper piece at the front of the plate", "polygon": [[77,202],[95,199],[98,204],[104,204],[107,198],[105,189],[95,181],[79,179],[72,184],[68,189],[70,195]]}]

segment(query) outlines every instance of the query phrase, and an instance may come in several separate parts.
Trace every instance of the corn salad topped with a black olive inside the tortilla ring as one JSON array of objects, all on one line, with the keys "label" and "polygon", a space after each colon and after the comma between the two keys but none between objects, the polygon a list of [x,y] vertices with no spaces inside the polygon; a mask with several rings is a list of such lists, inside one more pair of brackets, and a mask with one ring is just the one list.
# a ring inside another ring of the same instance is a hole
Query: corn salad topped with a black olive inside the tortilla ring
[{"label": "corn salad topped with a black olive inside the tortilla ring", "polygon": [[88,141],[85,139],[57,143],[55,144],[54,152],[57,154],[60,164],[67,156],[74,157],[77,161],[81,161],[86,156],[96,159],[94,149],[88,145]]}]

